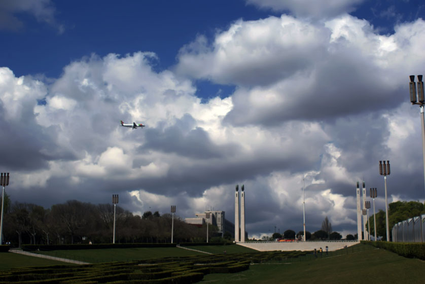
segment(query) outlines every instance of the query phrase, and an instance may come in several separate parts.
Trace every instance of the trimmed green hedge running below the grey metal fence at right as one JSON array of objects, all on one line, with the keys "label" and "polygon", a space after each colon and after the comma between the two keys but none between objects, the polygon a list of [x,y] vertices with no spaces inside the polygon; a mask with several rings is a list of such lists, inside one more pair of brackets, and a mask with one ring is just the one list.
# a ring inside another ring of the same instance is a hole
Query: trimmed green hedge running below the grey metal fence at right
[{"label": "trimmed green hedge running below the grey metal fence at right", "polygon": [[425,243],[363,240],[361,243],[383,248],[384,250],[391,251],[403,257],[425,260]]}]

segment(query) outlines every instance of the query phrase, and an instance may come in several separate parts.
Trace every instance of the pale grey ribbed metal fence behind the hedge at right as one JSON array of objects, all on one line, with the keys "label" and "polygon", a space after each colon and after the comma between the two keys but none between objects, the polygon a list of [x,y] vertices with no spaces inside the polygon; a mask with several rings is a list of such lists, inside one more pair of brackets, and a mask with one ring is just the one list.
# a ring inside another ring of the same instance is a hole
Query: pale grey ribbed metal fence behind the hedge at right
[{"label": "pale grey ribbed metal fence behind the hedge at right", "polygon": [[425,236],[425,215],[416,216],[394,225],[394,242],[423,242]]}]

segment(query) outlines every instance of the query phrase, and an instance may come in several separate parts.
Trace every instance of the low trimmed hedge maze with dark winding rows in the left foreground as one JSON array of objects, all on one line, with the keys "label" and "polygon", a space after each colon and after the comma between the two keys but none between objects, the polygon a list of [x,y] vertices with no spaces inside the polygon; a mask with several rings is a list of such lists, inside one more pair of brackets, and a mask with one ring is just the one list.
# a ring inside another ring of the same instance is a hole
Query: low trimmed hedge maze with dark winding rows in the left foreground
[{"label": "low trimmed hedge maze with dark winding rows in the left foreground", "polygon": [[252,263],[282,261],[305,254],[306,252],[299,251],[274,251],[88,265],[27,267],[0,272],[0,284],[195,283],[209,273],[235,273],[249,269]]}]

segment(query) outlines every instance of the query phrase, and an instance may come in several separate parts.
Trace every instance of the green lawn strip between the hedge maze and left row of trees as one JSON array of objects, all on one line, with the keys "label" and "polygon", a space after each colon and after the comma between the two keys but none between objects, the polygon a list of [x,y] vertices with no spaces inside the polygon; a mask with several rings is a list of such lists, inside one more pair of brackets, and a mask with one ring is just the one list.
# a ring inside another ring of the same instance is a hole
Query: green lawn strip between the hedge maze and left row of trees
[{"label": "green lawn strip between the hedge maze and left row of trees", "polygon": [[37,253],[89,263],[204,255],[178,247],[105,248],[102,250],[67,250]]}]

